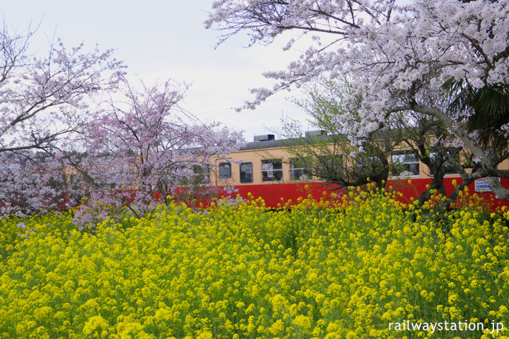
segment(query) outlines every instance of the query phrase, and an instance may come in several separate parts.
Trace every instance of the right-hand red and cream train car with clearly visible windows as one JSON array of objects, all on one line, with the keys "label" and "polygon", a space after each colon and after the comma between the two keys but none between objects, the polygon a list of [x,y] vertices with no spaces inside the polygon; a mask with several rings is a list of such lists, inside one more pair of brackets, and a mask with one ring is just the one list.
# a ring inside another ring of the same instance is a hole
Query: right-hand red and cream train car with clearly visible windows
[{"label": "right-hand red and cream train car with clearly visible windows", "polygon": [[[311,133],[320,137],[322,131]],[[324,192],[327,194],[337,189],[337,185],[326,184],[308,174],[305,168],[294,166],[291,154],[288,153],[288,140],[290,139],[276,140],[271,134],[255,136],[254,141],[230,153],[226,159],[214,160],[212,165],[215,170],[210,172],[211,184],[219,188],[235,189],[235,193],[230,194],[230,197],[236,194],[242,198],[250,195],[254,198],[262,197],[270,208],[278,208],[282,202],[288,200],[296,202],[298,198],[305,198],[309,194],[319,199],[324,196]],[[397,161],[404,167],[400,175],[389,178],[387,186],[401,191],[407,202],[418,198],[432,182],[430,169],[420,162],[416,155],[406,150],[394,151],[388,161]],[[509,160],[505,160],[499,168],[509,169]],[[461,182],[459,174],[445,174],[444,186],[447,195],[454,191],[455,184]],[[501,179],[501,183],[509,188],[509,180]],[[493,206],[509,206],[508,201],[502,201],[493,194],[486,179],[477,179],[468,187],[471,194],[478,194]],[[342,193],[341,190],[336,192],[339,195]]]}]

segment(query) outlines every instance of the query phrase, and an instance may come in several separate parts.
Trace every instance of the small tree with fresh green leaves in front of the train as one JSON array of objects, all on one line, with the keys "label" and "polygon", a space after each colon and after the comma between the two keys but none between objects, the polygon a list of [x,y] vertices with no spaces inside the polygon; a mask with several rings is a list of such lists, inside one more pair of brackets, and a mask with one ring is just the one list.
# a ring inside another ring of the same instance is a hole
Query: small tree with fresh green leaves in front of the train
[{"label": "small tree with fresh green leaves in front of the train", "polygon": [[342,100],[349,92],[349,84],[320,77],[303,88],[308,95],[293,102],[306,112],[308,123],[320,133],[317,136],[303,133],[298,121],[291,117],[281,119],[278,133],[287,139],[285,146],[291,155],[291,164],[305,168],[308,176],[336,184],[337,189],[370,182],[382,187],[387,184],[391,172],[402,172],[401,165],[387,161],[403,141],[399,126],[391,125],[378,131],[359,153],[358,145],[349,143],[338,124],[345,119],[358,119],[355,109],[346,111],[343,108]]}]

